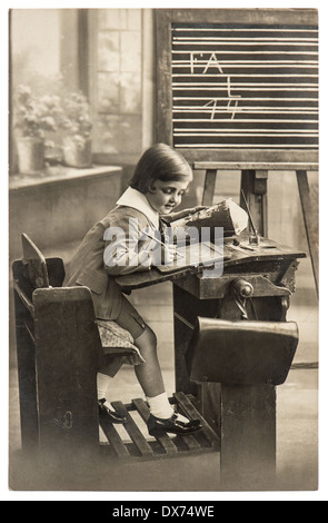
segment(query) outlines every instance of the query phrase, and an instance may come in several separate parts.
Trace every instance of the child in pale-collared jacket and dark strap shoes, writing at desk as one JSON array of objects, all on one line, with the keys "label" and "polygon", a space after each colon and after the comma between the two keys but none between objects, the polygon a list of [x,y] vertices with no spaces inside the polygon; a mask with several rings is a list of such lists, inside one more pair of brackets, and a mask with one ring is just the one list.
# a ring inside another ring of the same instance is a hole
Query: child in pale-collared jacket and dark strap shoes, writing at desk
[{"label": "child in pale-collared jacket and dark strap shoes, writing at desk", "polygon": [[[161,259],[166,263],[173,259],[172,246],[159,247],[143,231],[155,237],[162,230],[161,217],[169,223],[198,209],[171,215],[191,180],[191,168],[179,152],[165,144],[150,147],[140,158],[117,207],[86,235],[63,284],[89,287],[101,325],[115,320],[131,334],[140,355],[135,372],[150,408],[148,431],[151,435],[190,434],[201,425],[199,421],[181,421],[175,414],[159,366],[156,335],[122,294],[116,276],[149,270]],[[99,408],[106,411],[113,423],[123,423],[125,418],[110,408],[107,399],[108,385],[116,372],[117,368],[101,368],[98,373]]]}]

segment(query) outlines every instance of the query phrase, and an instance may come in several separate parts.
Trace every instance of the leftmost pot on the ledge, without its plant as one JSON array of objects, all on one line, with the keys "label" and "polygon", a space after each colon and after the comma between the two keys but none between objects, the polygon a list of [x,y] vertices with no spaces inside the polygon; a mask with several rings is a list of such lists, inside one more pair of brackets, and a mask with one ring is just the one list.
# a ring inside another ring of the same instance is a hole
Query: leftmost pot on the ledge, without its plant
[{"label": "leftmost pot on the ledge, without its plant", "polygon": [[38,172],[44,167],[44,142],[40,138],[17,139],[18,170],[22,175]]}]

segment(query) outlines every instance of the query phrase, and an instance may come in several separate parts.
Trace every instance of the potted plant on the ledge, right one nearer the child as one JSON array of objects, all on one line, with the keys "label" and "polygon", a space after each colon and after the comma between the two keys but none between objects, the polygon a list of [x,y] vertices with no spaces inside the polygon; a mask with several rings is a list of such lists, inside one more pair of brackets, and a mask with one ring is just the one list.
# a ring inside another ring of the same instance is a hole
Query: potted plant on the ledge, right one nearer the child
[{"label": "potted plant on the ledge, right one nearer the child", "polygon": [[89,167],[92,164],[92,124],[89,103],[82,93],[71,92],[62,98],[63,161],[71,167]]}]

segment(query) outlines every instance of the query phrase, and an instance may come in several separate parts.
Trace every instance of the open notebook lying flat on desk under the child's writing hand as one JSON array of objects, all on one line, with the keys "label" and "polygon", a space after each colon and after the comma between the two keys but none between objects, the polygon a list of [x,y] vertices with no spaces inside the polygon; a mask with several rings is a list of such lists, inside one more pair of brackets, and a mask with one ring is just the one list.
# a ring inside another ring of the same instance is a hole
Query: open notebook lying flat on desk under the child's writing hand
[{"label": "open notebook lying flat on desk under the child's writing hand", "polygon": [[157,269],[163,274],[179,272],[189,267],[210,268],[216,263],[230,258],[223,253],[223,246],[217,247],[210,241],[195,243],[177,248],[178,256],[169,265],[160,265]]}]

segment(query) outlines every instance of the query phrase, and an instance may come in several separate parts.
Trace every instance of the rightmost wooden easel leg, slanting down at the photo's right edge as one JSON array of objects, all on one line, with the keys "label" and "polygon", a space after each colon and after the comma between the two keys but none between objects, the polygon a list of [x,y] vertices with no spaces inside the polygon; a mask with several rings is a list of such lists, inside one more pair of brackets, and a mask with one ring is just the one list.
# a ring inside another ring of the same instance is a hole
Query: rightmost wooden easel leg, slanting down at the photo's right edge
[{"label": "rightmost wooden easel leg, slanting down at the photo's right edge", "polygon": [[309,251],[311,256],[316,289],[317,289],[317,294],[319,294],[318,230],[314,220],[311,198],[310,198],[310,188],[309,188],[309,182],[308,182],[308,174],[306,170],[297,170],[296,176],[297,176],[299,197],[300,197],[300,203],[301,203],[301,208],[302,208],[305,228],[306,228],[306,234],[307,234],[307,239],[308,239],[308,246],[309,246]]}]

